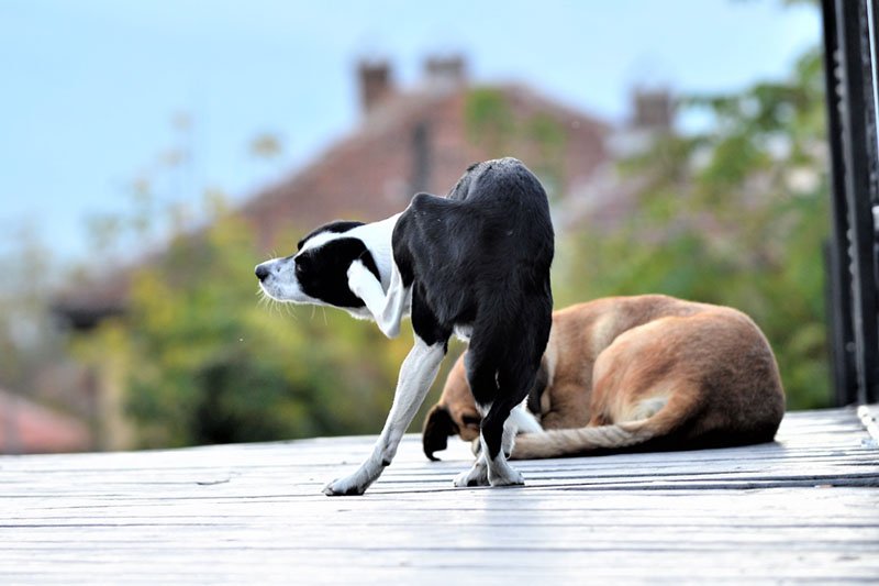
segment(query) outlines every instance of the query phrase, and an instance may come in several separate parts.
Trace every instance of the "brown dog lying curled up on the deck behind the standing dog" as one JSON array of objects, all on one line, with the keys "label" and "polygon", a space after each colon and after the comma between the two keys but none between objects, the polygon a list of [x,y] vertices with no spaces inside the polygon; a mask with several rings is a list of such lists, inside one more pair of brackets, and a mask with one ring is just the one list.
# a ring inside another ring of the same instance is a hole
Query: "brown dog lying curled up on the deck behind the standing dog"
[{"label": "brown dog lying curled up on the deck behind the standing dog", "polygon": [[[531,413],[533,417],[530,417]],[[785,413],[772,350],[747,316],[661,295],[556,311],[513,457],[690,450],[768,442]],[[449,435],[479,435],[464,356],[424,422],[431,460]]]}]

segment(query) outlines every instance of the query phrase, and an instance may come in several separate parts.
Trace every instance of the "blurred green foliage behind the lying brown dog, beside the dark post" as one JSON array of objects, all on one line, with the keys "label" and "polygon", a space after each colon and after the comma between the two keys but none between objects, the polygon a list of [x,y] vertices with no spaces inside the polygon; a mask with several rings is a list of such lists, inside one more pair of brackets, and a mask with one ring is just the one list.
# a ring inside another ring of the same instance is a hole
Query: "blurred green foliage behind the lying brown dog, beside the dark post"
[{"label": "blurred green foliage behind the lying brown dog, beside the dark post", "polygon": [[821,55],[791,79],[685,100],[713,124],[623,169],[643,186],[613,232],[559,248],[558,305],[665,292],[736,307],[766,332],[790,408],[830,400],[822,242],[828,229]]}]

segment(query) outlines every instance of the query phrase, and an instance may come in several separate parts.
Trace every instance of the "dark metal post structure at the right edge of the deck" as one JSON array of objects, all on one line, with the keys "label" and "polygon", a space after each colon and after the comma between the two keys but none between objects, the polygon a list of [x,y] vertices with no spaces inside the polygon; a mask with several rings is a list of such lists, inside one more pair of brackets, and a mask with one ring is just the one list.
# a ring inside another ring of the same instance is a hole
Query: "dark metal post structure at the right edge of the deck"
[{"label": "dark metal post structure at the right edge of the deck", "polygon": [[876,31],[870,23],[876,11],[868,3],[871,1],[823,2],[834,190],[834,382],[842,403],[879,400],[879,266],[874,219],[874,209],[879,209],[879,147]]}]

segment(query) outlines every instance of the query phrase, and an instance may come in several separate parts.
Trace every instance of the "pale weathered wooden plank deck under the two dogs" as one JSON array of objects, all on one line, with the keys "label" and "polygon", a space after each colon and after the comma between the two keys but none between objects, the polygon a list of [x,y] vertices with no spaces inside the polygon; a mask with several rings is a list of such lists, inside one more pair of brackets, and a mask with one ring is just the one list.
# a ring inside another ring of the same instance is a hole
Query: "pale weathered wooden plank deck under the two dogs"
[{"label": "pale weathered wooden plank deck under the two dogs", "polygon": [[[874,412],[876,412],[874,410]],[[879,449],[852,409],[778,442],[520,462],[456,489],[419,436],[363,497],[327,498],[371,438],[0,457],[0,584],[879,581]]]}]

